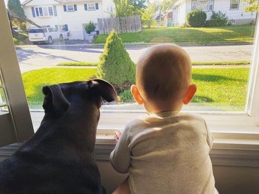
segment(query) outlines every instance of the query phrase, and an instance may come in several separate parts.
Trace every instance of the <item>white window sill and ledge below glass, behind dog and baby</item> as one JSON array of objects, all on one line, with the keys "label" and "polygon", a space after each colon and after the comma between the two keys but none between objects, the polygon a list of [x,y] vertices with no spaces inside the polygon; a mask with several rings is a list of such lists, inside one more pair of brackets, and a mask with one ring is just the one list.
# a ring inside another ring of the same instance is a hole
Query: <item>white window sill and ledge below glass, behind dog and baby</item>
[{"label": "white window sill and ledge below glass, behind dog and baby", "polygon": [[[30,112],[35,128],[39,127],[44,112]],[[99,120],[95,145],[95,159],[108,160],[115,147],[115,130],[144,113],[102,112]],[[247,115],[202,114],[207,121],[214,142],[211,150],[213,165],[259,167],[259,126],[256,117]],[[0,149],[1,156],[10,156],[16,146]],[[18,145],[18,146],[17,146]]]}]

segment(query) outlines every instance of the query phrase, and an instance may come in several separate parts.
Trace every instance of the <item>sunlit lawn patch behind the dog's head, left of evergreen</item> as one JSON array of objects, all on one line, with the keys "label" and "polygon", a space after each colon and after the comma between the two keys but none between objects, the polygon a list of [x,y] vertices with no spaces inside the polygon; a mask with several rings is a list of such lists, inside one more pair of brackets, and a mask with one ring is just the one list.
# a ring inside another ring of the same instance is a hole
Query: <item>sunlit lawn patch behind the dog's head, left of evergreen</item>
[{"label": "sunlit lawn patch behind the dog's head, left of evergreen", "polygon": [[30,108],[41,108],[44,99],[41,92],[43,86],[88,80],[95,72],[93,68],[41,68],[23,72],[23,84]]}]

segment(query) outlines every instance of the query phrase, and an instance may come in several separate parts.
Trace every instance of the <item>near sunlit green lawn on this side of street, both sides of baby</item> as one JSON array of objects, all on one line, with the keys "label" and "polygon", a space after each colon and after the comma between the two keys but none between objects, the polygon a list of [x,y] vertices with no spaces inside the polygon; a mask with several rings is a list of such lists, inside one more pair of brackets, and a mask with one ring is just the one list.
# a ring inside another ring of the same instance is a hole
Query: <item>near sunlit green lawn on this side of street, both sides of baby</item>
[{"label": "near sunlit green lawn on this side of street, both sides of baby", "polygon": [[[87,80],[95,72],[93,68],[43,68],[24,72],[30,108],[41,108],[42,86]],[[249,68],[193,68],[193,83],[198,86],[193,102],[218,110],[244,110],[248,76]]]}]

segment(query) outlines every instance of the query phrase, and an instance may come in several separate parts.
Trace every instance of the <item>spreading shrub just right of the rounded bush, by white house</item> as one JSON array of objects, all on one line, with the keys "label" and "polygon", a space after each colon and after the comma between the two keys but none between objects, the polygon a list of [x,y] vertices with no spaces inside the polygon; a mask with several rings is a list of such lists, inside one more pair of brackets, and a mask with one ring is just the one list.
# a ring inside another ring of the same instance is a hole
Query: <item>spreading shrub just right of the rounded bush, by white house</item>
[{"label": "spreading shrub just right of the rounded bush, by white house", "polygon": [[206,26],[227,26],[227,22],[229,21],[229,17],[227,17],[226,13],[222,13],[221,11],[212,12],[211,19],[206,21]]}]

